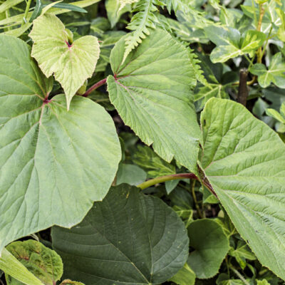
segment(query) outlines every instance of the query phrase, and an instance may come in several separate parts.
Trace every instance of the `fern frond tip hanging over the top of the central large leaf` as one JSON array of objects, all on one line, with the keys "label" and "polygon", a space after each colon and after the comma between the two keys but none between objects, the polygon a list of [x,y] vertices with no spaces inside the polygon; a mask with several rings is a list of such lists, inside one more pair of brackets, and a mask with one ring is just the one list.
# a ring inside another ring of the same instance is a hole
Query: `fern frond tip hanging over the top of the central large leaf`
[{"label": "fern frond tip hanging over the top of the central large leaf", "polygon": [[142,39],[150,34],[149,28],[155,28],[158,23],[155,12],[156,6],[163,6],[159,0],[140,0],[133,10],[136,13],[128,24],[127,28],[132,33],[129,33],[125,38],[125,54],[123,61],[128,54],[142,42]]}]

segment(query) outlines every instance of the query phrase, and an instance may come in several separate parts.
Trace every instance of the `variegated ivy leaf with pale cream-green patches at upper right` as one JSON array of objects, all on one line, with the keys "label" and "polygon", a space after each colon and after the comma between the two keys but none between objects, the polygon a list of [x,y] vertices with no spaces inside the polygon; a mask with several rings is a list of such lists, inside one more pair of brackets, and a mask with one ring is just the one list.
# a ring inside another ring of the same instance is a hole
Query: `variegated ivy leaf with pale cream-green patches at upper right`
[{"label": "variegated ivy leaf with pale cream-green patches at upper right", "polygon": [[217,45],[210,56],[213,63],[256,51],[266,40],[266,35],[260,31],[248,30],[242,37],[235,28],[209,26],[205,30],[209,39]]}]

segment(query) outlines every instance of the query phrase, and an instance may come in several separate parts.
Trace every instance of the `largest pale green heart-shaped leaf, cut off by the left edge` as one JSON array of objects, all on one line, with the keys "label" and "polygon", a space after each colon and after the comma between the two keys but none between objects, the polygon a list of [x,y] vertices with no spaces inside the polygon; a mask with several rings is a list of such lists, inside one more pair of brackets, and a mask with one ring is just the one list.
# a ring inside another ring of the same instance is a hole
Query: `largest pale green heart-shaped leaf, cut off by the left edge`
[{"label": "largest pale green heart-shaped leaf, cut off by the left edge", "polygon": [[[9,55],[9,56],[8,56]],[[97,103],[47,99],[52,81],[24,41],[0,36],[0,251],[19,237],[81,222],[120,161],[113,120]]]}]

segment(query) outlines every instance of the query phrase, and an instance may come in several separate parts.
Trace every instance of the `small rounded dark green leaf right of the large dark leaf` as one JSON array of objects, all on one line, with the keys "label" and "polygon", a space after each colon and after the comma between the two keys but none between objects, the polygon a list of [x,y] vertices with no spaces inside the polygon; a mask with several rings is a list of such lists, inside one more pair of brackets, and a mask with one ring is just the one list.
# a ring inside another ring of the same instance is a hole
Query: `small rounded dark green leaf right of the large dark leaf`
[{"label": "small rounded dark green leaf right of the large dark leaf", "polygon": [[208,279],[219,272],[219,267],[229,251],[229,239],[222,227],[212,219],[197,219],[188,227],[190,252],[187,264],[197,278]]}]

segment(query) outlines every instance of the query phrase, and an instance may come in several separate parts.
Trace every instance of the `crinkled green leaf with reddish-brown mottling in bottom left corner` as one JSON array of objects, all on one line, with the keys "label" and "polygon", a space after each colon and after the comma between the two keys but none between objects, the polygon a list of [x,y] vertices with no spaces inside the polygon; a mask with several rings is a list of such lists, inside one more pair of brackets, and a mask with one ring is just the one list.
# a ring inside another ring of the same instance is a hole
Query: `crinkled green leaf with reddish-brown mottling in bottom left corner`
[{"label": "crinkled green leaf with reddish-brown mottling in bottom left corner", "polygon": [[[26,269],[34,274],[43,284],[53,285],[61,279],[63,263],[61,257],[52,249],[48,249],[41,242],[32,239],[25,242],[13,242],[7,250],[24,264]],[[20,281],[6,274],[7,283],[21,285]]]}]

